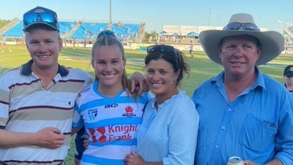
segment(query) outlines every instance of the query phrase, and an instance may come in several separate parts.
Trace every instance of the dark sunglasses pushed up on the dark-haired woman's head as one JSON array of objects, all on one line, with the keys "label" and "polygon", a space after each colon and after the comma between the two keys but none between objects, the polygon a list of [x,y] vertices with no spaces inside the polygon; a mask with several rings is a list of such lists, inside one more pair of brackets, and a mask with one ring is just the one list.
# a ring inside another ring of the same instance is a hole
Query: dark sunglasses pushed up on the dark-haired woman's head
[{"label": "dark sunglasses pushed up on the dark-haired woman's head", "polygon": [[148,53],[153,53],[153,52],[163,52],[163,53],[171,53],[175,55],[175,60],[177,63],[177,69],[179,69],[179,64],[180,62],[180,57],[179,55],[177,55],[176,50],[174,49],[174,47],[170,46],[170,45],[152,45],[147,47],[147,52]]}]

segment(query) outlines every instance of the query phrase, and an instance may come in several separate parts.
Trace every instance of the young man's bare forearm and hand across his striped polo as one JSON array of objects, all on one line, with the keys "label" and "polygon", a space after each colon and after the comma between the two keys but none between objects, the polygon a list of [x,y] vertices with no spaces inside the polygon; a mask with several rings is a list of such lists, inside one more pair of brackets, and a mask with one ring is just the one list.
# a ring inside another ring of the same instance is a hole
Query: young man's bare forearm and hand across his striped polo
[{"label": "young man's bare forearm and hand across his striped polo", "polygon": [[10,132],[0,130],[0,148],[38,145],[48,149],[56,149],[64,144],[65,135],[54,127],[46,127],[38,132]]}]

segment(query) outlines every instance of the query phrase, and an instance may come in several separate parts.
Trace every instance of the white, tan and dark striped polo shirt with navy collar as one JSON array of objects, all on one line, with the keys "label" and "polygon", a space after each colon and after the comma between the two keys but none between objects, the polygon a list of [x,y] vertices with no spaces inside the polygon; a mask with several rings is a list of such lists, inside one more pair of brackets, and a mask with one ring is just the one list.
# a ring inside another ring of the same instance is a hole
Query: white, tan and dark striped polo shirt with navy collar
[{"label": "white, tan and dark striped polo shirt with navy collar", "polygon": [[[37,132],[56,127],[66,135],[58,149],[37,145],[0,149],[6,164],[60,164],[68,153],[73,107],[78,93],[92,83],[90,74],[59,65],[44,89],[31,68],[32,60],[0,76],[0,127],[11,132]],[[8,137],[9,138],[9,137]]]}]

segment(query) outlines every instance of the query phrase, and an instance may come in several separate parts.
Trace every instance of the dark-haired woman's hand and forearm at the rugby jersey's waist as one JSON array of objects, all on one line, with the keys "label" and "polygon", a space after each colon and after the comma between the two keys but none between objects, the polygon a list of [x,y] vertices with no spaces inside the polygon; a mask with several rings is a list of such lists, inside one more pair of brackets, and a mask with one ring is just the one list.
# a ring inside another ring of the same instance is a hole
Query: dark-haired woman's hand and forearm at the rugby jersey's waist
[{"label": "dark-haired woman's hand and forearm at the rugby jersey's waist", "polygon": [[126,165],[164,165],[162,161],[160,162],[147,162],[144,161],[139,154],[136,152],[131,152],[131,154],[127,154],[124,159]]}]

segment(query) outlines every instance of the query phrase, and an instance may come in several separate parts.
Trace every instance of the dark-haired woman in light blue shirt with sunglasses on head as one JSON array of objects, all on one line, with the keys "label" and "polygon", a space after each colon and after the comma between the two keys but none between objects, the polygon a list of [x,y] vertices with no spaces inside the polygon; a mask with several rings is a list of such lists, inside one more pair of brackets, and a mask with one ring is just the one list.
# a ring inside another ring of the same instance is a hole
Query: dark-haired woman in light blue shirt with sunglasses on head
[{"label": "dark-haired woman in light blue shirt with sunglasses on head", "polygon": [[145,107],[137,149],[126,155],[126,164],[193,164],[199,117],[193,101],[178,89],[190,68],[172,46],[147,51],[146,79],[155,98]]}]

